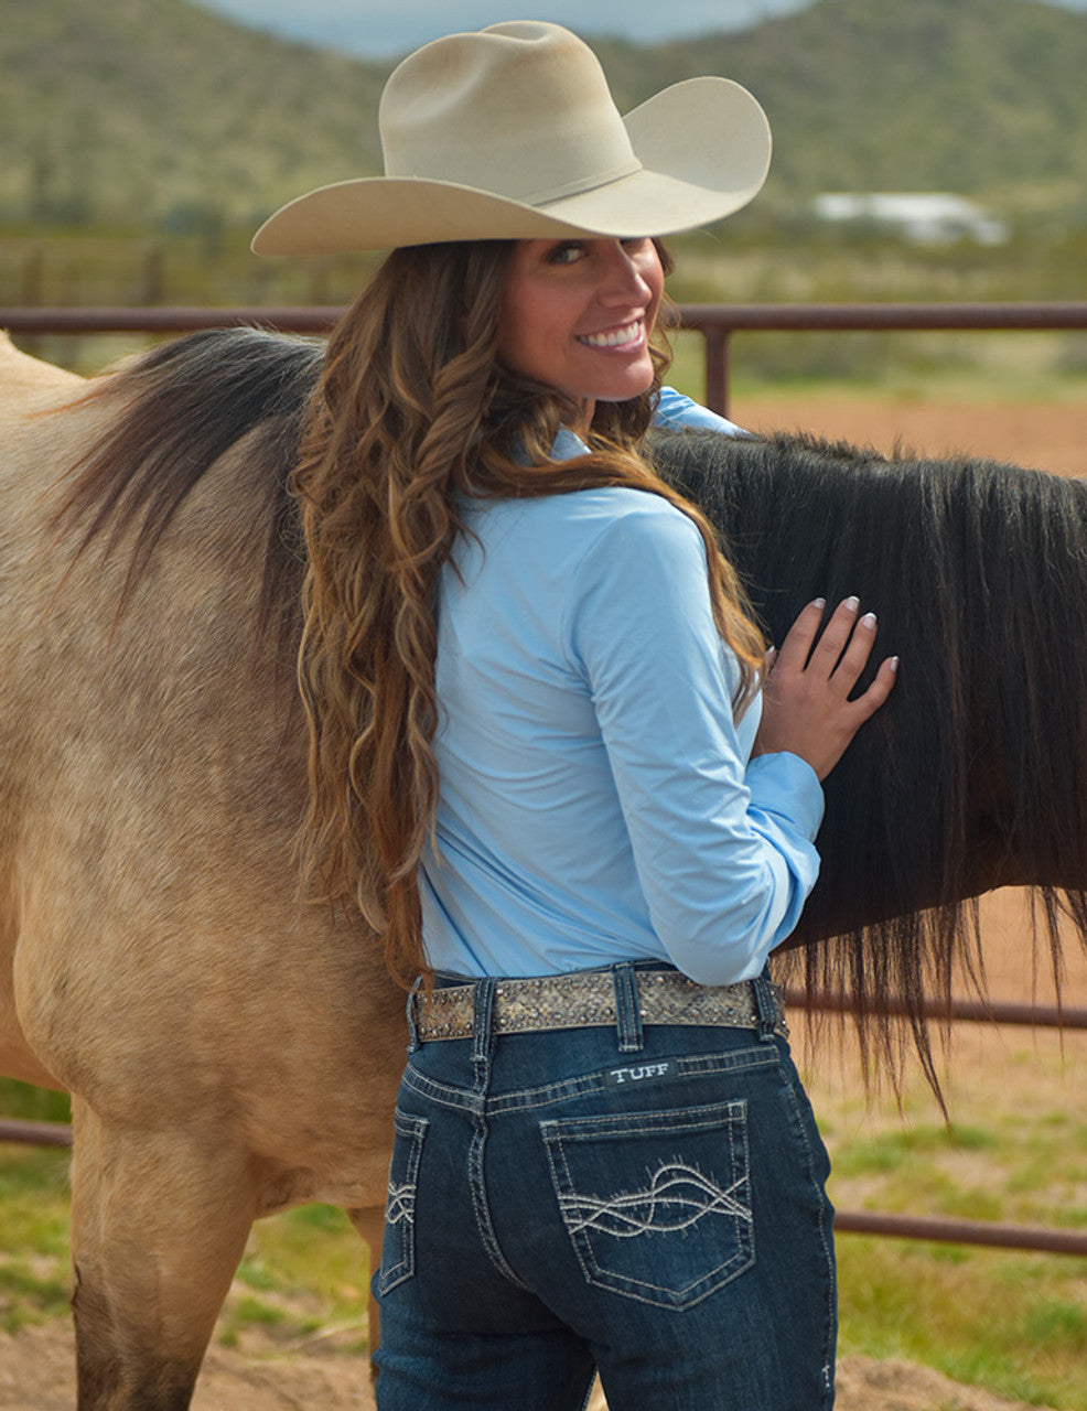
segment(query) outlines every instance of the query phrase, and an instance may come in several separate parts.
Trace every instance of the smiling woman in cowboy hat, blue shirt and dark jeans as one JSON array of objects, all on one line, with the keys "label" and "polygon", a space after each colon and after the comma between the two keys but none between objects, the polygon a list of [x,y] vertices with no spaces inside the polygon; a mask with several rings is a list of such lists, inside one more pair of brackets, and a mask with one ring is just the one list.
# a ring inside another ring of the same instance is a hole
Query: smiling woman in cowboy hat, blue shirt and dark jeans
[{"label": "smiling woman in cowboy hat, blue shirt and dark jeans", "polygon": [[384,178],[254,240],[395,247],[295,476],[306,876],[415,986],[378,1404],[575,1408],[599,1369],[611,1411],[830,1405],[827,1163],[765,962],[895,662],[848,700],[875,621],[820,635],[816,602],[761,693],[737,580],[642,454],[707,418],[661,388],[656,237],[754,196],[765,119],[696,79],[624,120],[524,21],[411,55],[381,127]]}]

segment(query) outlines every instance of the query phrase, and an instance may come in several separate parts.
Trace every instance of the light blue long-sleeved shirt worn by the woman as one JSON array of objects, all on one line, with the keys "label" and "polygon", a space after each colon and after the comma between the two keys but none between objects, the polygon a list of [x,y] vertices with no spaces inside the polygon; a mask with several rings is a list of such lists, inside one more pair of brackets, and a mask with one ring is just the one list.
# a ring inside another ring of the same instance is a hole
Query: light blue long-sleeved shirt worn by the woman
[{"label": "light blue long-sleeved shirt worn by the woman", "polygon": [[466,512],[439,587],[432,965],[758,975],[815,883],[823,794],[795,755],[750,759],[761,700],[734,722],[697,529],[620,487]]}]

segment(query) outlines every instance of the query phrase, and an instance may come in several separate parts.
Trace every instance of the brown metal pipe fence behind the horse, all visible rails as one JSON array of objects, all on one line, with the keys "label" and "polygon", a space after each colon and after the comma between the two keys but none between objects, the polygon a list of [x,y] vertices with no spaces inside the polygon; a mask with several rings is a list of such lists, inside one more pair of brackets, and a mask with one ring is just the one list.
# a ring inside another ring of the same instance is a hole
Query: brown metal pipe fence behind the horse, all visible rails
[{"label": "brown metal pipe fence behind the horse, all visible rails", "polygon": [[[0,329],[13,334],[188,333],[196,329],[254,326],[282,333],[326,333],[339,319],[340,305],[299,308],[0,308]],[[751,332],[947,332],[954,329],[1073,330],[1087,329],[1087,302],[1079,303],[731,303],[680,305],[685,329],[704,339],[706,405],[727,415],[731,339]],[[841,1012],[839,995],[791,992],[792,1006]],[[1087,1009],[951,1000],[927,1006],[936,1022],[988,1022],[1039,1027],[1087,1029]],[[0,1141],[71,1146],[62,1123],[0,1119]],[[839,1211],[840,1232],[935,1240],[953,1245],[1021,1249],[1087,1257],[1087,1233],[990,1221],[888,1215],[879,1211]]]}]

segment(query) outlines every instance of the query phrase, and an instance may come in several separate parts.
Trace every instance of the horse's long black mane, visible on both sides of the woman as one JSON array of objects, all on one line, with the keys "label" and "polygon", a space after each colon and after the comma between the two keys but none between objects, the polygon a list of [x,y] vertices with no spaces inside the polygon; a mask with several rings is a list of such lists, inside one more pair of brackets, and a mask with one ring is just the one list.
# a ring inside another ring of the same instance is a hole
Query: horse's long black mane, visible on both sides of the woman
[{"label": "horse's long black mane, visible on both sides of the woman", "polygon": [[[186,495],[248,437],[267,476],[261,621],[298,631],[288,477],[322,346],[246,330],[168,343],[104,380],[116,426],[62,514],[83,545],[131,526],[130,586]],[[939,1092],[925,1002],[984,986],[977,904],[1029,885],[1059,976],[1060,914],[1087,935],[1087,485],[978,460],[887,460],[803,437],[656,433],[661,473],[721,531],[771,639],[816,595],[857,593],[901,656],[888,706],[826,785],[820,880],[783,958],[844,991],[894,1067],[901,1009]]]}]

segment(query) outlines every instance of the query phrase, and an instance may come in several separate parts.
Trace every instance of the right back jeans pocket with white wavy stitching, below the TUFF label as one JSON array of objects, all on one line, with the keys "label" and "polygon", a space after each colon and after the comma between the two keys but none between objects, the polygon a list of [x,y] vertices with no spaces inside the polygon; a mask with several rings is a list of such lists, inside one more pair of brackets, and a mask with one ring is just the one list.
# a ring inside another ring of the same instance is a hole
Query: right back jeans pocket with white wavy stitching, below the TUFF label
[{"label": "right back jeans pocket with white wavy stitching, below the TUFF label", "polygon": [[747,1103],[541,1123],[590,1284],[689,1308],[755,1261]]}]

